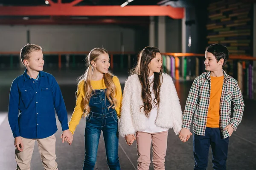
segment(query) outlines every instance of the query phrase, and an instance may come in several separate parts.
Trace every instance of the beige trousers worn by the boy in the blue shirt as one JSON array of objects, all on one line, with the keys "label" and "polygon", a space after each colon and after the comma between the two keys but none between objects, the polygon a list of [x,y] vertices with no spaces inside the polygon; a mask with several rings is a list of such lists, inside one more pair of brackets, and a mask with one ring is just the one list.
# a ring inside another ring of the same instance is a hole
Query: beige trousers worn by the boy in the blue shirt
[{"label": "beige trousers worn by the boy in the blue shirt", "polygon": [[23,152],[15,150],[15,158],[17,162],[16,170],[30,170],[30,161],[32,153],[35,147],[35,141],[38,142],[38,150],[41,155],[42,163],[45,170],[58,170],[56,154],[55,154],[55,142],[54,135],[44,139],[27,139],[21,137],[23,142]]}]

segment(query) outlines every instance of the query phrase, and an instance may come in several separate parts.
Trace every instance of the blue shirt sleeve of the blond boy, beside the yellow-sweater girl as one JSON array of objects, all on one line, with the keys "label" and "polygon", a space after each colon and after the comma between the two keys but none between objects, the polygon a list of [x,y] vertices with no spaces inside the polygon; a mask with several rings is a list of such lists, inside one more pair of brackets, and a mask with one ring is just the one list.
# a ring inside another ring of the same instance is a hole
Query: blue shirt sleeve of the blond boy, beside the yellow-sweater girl
[{"label": "blue shirt sleeve of the blond boy, beside the yellow-sweater girl", "polygon": [[62,131],[68,130],[69,128],[67,125],[66,106],[64,103],[63,96],[61,94],[61,89],[54,77],[53,77],[53,82],[52,82],[51,88],[52,88],[53,105],[54,105],[55,111],[57,113],[58,120],[61,122]]}]

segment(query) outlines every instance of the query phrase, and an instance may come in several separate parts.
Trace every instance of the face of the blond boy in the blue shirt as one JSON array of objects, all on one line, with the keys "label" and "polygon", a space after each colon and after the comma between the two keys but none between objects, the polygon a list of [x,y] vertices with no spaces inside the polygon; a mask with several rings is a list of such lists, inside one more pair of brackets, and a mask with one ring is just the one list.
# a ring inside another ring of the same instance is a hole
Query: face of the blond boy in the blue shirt
[{"label": "face of the blond boy in the blue shirt", "polygon": [[29,59],[23,60],[24,64],[28,69],[32,71],[43,71],[44,70],[44,55],[41,50],[33,51],[29,54]]}]

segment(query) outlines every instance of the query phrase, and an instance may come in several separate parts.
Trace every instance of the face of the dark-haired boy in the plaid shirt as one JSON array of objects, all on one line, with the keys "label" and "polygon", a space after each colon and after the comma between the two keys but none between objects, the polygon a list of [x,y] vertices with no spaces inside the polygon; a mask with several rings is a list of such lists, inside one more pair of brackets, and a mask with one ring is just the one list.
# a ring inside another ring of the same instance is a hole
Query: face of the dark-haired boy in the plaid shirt
[{"label": "face of the dark-haired boy in the plaid shirt", "polygon": [[223,61],[224,61],[224,59],[220,59],[217,62],[217,59],[215,58],[215,56],[212,53],[206,52],[205,53],[205,61],[204,61],[205,70],[206,71],[218,71],[218,70],[222,69]]}]

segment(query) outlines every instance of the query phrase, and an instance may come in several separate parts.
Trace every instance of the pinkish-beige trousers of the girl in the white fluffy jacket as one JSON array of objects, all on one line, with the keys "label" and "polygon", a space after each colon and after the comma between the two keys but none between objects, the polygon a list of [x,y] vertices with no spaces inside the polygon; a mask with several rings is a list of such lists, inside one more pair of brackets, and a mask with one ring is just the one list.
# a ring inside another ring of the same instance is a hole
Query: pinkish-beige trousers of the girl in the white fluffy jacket
[{"label": "pinkish-beige trousers of the girl in the white fluffy jacket", "polygon": [[167,149],[168,130],[159,133],[136,133],[138,166],[137,170],[148,170],[152,141],[154,170],[165,170],[164,162]]}]

